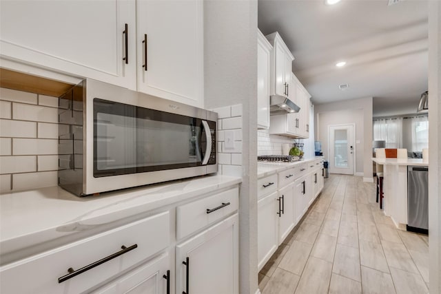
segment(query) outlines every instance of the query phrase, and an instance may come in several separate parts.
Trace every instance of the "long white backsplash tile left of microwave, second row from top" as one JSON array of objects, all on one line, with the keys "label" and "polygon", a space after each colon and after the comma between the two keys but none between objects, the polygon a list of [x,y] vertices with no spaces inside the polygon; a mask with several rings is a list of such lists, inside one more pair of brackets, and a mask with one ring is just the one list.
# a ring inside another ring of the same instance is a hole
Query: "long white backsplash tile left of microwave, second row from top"
[{"label": "long white backsplash tile left of microwave, second row from top", "polygon": [[13,103],[12,118],[18,120],[42,121],[45,123],[58,123],[58,109],[54,107]]}]

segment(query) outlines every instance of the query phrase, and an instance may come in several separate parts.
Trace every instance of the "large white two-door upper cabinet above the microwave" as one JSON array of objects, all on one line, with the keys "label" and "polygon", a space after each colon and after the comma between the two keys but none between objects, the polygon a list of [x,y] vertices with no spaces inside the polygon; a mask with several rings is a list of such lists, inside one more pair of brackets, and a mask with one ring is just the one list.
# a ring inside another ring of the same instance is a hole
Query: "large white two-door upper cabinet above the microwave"
[{"label": "large white two-door upper cabinet above the microwave", "polygon": [[0,16],[3,59],[203,107],[203,1],[2,0]]}]

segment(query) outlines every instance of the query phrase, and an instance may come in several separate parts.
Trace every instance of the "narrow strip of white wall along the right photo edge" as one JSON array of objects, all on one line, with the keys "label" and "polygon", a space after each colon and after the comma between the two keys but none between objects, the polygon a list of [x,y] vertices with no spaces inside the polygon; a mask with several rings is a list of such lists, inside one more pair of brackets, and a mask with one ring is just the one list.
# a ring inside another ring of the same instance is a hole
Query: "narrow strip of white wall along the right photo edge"
[{"label": "narrow strip of white wall along the right photo edge", "polygon": [[441,293],[441,3],[429,1],[429,291]]}]

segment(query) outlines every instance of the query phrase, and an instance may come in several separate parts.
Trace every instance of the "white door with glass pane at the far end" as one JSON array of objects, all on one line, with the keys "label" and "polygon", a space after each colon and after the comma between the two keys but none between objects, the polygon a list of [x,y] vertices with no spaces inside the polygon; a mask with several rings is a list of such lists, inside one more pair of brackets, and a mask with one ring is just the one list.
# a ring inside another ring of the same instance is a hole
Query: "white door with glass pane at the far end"
[{"label": "white door with glass pane at the far end", "polygon": [[329,172],[353,175],[354,125],[329,126]]}]

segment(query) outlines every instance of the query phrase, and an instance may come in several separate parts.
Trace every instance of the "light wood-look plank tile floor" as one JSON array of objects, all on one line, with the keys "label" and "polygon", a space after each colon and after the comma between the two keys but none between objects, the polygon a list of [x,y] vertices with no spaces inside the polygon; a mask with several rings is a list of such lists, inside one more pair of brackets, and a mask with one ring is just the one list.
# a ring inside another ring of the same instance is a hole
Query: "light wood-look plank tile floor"
[{"label": "light wood-look plank tile floor", "polygon": [[263,294],[429,293],[427,236],[400,231],[361,177],[330,175],[259,273]]}]

